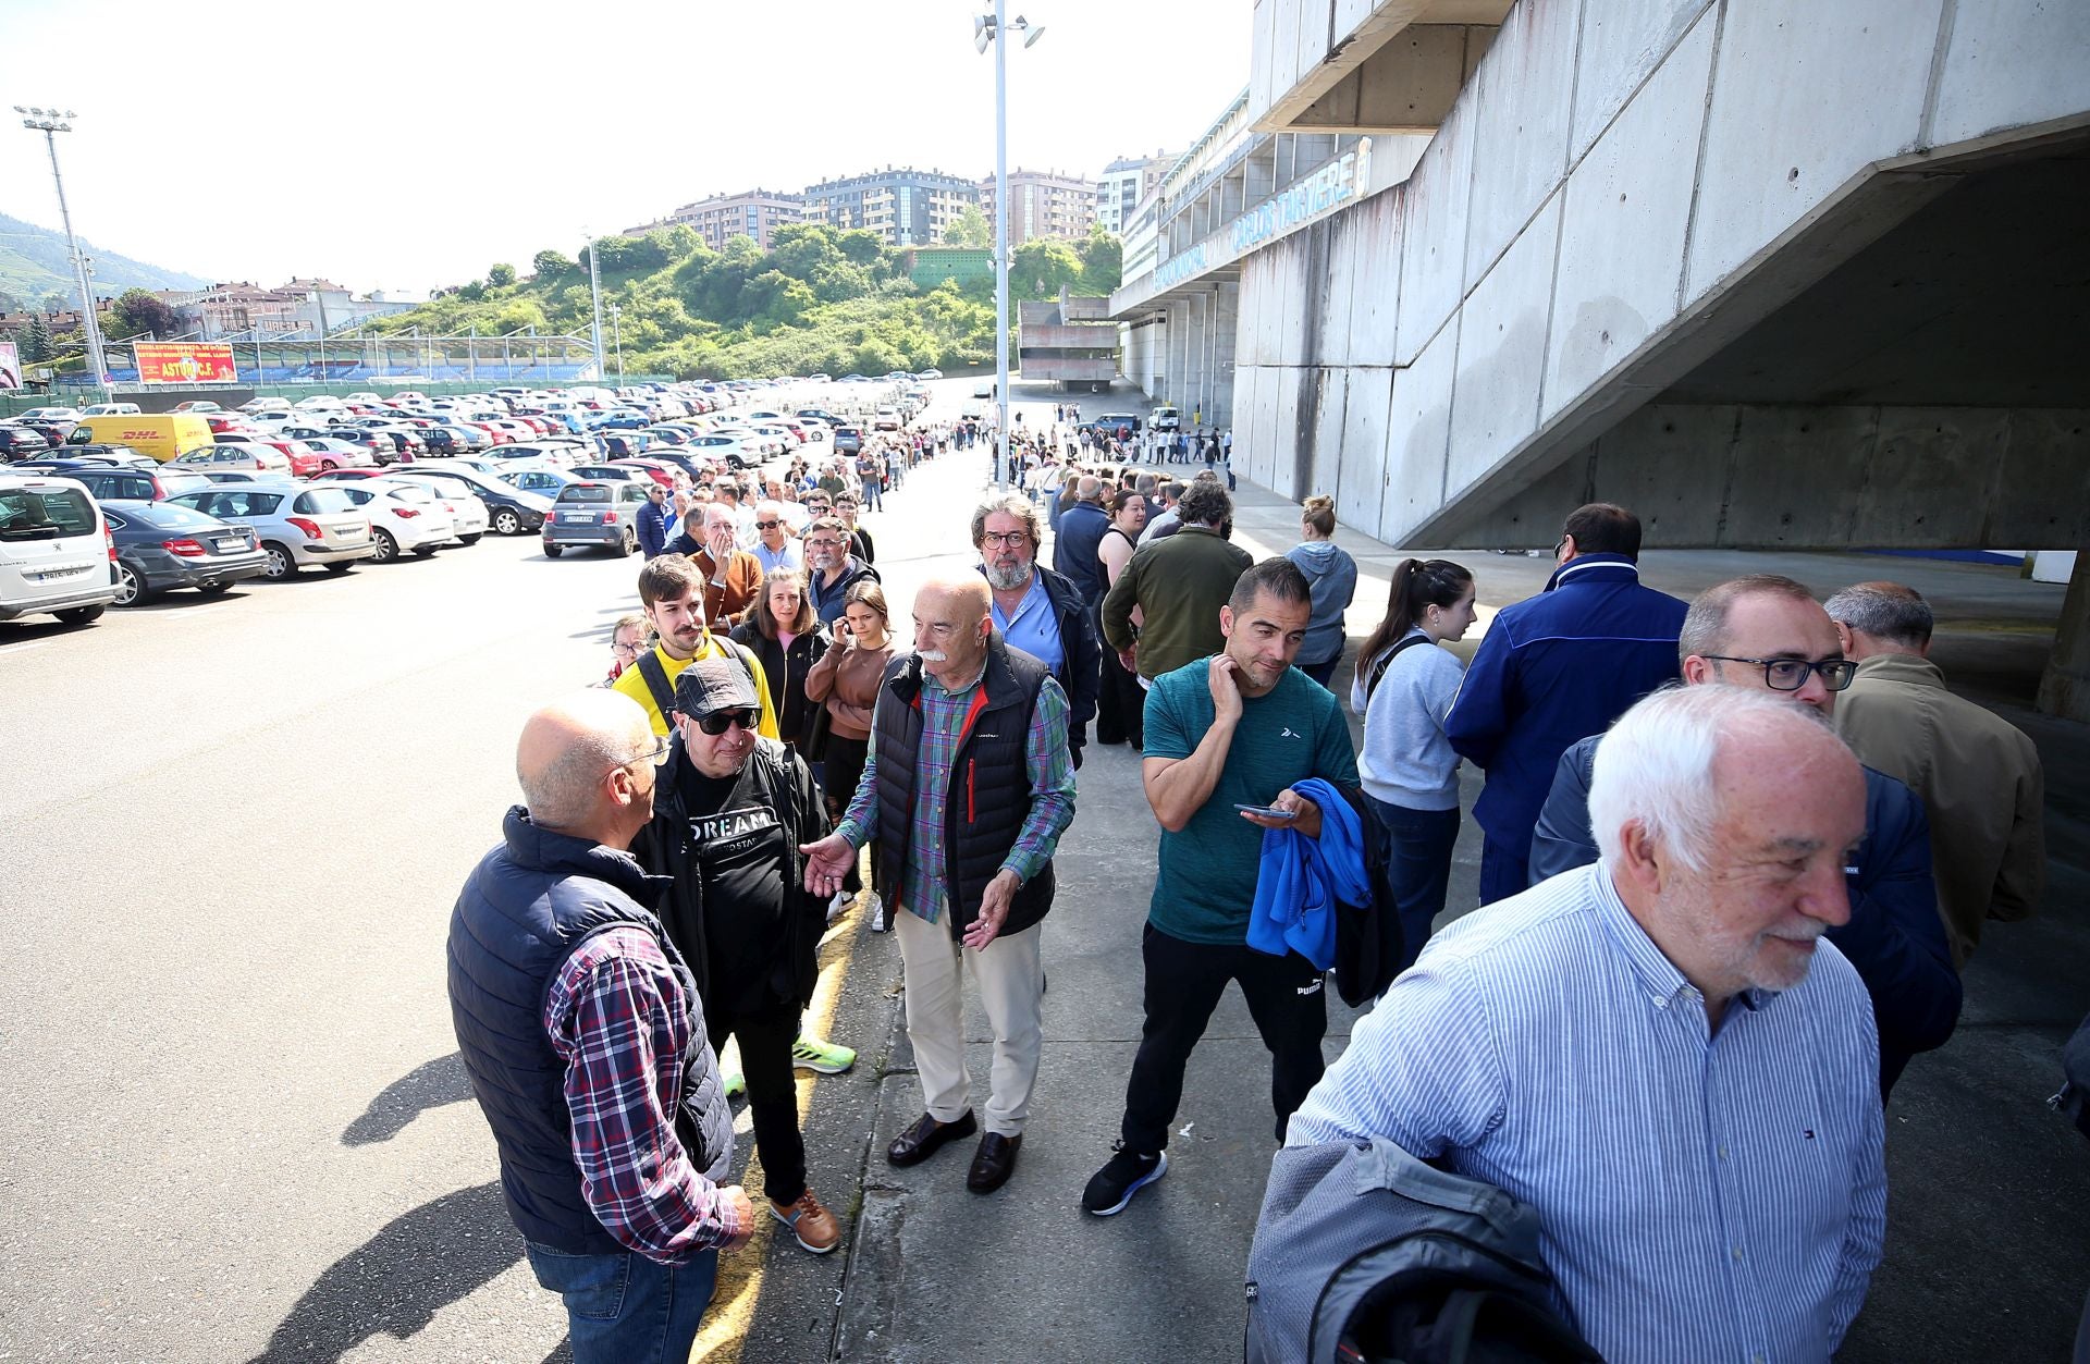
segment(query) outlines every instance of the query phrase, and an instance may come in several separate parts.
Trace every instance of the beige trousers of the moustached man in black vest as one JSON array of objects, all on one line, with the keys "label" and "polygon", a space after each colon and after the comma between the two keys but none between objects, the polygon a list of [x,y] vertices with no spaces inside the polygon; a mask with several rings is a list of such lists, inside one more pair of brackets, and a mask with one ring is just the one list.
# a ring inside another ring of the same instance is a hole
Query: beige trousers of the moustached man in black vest
[{"label": "beige trousers of the moustached man in black vest", "polygon": [[[945,911],[949,913],[949,911]],[[1020,1136],[1030,1115],[1030,1088],[1039,1078],[1045,1032],[1045,967],[1039,955],[1043,923],[1001,934],[974,950],[953,942],[947,919],[930,923],[905,909],[892,913],[907,969],[907,1040],[913,1042],[922,1099],[936,1122],[957,1122],[972,1107],[966,1074],[966,978],[980,986],[986,1024],[995,1030],[995,1067],[989,1074],[986,1130]]]}]

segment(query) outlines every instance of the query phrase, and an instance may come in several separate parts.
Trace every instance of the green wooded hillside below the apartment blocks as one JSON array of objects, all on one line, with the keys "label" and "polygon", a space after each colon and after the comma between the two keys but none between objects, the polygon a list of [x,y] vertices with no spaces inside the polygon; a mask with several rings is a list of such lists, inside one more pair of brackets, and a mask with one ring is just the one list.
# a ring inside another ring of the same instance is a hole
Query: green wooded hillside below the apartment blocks
[{"label": "green wooded hillside below the apartment blocks", "polygon": [[[993,290],[909,282],[907,251],[872,232],[821,224],[777,228],[771,251],[736,236],[711,251],[690,228],[596,242],[602,276],[604,349],[621,332],[625,368],[677,378],[754,378],[767,374],[884,374],[984,366],[995,355]],[[1035,240],[1009,255],[1009,299],[1110,290],[1118,242]],[[372,324],[387,332],[587,334],[587,253],[579,259],[539,251],[533,274],[493,265],[485,280],[443,290],[408,313]],[[619,320],[612,332],[610,305]]]}]

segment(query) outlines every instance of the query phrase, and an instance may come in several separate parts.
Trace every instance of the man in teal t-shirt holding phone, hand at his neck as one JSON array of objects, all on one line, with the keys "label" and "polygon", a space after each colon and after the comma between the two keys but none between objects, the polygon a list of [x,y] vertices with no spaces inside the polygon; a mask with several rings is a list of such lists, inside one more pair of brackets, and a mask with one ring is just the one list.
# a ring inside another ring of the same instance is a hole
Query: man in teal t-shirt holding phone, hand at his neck
[{"label": "man in teal t-shirt holding phone, hand at his neck", "polygon": [[[1241,986],[1271,1049],[1277,1140],[1321,1080],[1327,996],[1298,953],[1248,946],[1262,829],[1321,833],[1321,810],[1292,790],[1321,777],[1356,785],[1356,750],[1336,696],[1292,666],[1313,589],[1290,560],[1248,568],[1221,608],[1225,650],[1154,679],[1145,710],[1143,781],[1162,823],[1160,873],[1141,940],[1145,1028],[1124,1086],[1116,1155],[1089,1180],[1081,1205],[1112,1216],[1168,1172],[1168,1126],[1183,1067],[1227,992]],[[1290,810],[1269,817],[1237,804]]]}]

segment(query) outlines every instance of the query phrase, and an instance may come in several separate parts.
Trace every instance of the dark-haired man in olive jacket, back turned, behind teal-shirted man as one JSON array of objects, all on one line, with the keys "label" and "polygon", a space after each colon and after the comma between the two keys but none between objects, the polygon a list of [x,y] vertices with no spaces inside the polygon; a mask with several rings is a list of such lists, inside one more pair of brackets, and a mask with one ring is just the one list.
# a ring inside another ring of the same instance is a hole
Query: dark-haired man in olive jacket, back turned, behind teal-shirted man
[{"label": "dark-haired man in olive jacket, back turned, behind teal-shirted man", "polygon": [[[1233,497],[1216,478],[1198,478],[1177,503],[1183,528],[1141,545],[1104,597],[1104,639],[1141,685],[1225,648],[1218,608],[1254,560],[1229,545],[1221,526],[1233,518]],[[1141,625],[1133,631],[1133,608]]]}]

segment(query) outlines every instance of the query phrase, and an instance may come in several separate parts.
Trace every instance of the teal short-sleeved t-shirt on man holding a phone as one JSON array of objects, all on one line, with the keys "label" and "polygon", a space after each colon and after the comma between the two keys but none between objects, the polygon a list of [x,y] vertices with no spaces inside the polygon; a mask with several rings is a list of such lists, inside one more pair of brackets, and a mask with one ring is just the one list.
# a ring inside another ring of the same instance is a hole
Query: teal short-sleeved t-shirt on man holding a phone
[{"label": "teal short-sleeved t-shirt on man holding a phone", "polygon": [[[1145,710],[1145,756],[1187,758],[1212,729],[1210,660],[1154,679]],[[1321,777],[1356,785],[1356,750],[1336,696],[1287,668],[1269,696],[1241,698],[1227,765],[1181,833],[1162,829],[1160,873],[1147,921],[1185,942],[1248,942],[1262,829],[1235,804],[1271,804],[1287,785]]]}]

